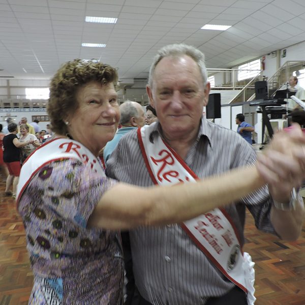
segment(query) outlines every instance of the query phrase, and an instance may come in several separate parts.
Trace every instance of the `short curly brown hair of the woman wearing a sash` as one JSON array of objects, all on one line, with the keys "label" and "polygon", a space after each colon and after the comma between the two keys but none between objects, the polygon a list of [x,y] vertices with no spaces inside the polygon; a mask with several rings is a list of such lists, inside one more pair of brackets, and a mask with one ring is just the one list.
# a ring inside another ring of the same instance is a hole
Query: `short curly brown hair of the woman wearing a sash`
[{"label": "short curly brown hair of the woman wearing a sash", "polygon": [[61,135],[68,133],[65,120],[78,108],[76,94],[85,84],[97,81],[102,85],[113,83],[117,89],[118,75],[115,68],[91,60],[74,59],[60,67],[50,83],[47,111],[52,130]]}]

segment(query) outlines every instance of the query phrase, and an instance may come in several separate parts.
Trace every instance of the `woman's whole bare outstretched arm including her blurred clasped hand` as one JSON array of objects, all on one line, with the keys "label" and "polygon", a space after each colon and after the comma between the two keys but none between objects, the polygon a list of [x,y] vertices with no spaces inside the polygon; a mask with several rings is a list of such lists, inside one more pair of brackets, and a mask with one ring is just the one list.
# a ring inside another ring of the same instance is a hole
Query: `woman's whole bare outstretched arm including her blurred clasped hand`
[{"label": "woman's whole bare outstretched arm including her blurred clasped hand", "polygon": [[[263,167],[264,170],[260,161],[255,167],[240,167],[196,183],[150,188],[118,183],[104,193],[88,220],[88,226],[128,229],[141,225],[179,223],[232,203],[265,183],[272,190],[276,188],[281,192],[279,190],[285,189],[286,193],[283,176],[293,173],[290,188],[305,179],[304,147],[305,137],[300,128],[295,127],[289,135],[282,132],[273,138],[265,154],[280,154],[281,158],[278,163]],[[272,160],[269,159],[269,162]],[[291,167],[299,169],[291,171]]]}]

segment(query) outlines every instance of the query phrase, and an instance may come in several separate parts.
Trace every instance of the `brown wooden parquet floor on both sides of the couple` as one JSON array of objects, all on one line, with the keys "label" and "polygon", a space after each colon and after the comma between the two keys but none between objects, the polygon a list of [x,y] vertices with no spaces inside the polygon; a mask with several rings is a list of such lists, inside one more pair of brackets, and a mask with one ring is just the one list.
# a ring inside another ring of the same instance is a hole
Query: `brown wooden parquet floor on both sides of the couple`
[{"label": "brown wooden parquet floor on both sides of the couple", "polygon": [[[0,305],[25,305],[33,273],[25,249],[25,234],[15,202],[4,196],[0,176]],[[305,226],[295,242],[259,232],[247,215],[247,243],[256,263],[256,305],[305,305]],[[196,304],[194,304],[196,305]]]}]

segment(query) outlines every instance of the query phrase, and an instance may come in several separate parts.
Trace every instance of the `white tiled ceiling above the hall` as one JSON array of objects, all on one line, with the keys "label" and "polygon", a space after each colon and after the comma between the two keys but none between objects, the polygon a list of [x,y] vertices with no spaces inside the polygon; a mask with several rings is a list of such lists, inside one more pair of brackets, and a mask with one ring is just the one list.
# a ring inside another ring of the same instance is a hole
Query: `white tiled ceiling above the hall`
[{"label": "white tiled ceiling above the hall", "polygon": [[47,79],[67,60],[96,58],[121,80],[146,78],[156,51],[179,42],[202,50],[207,68],[229,68],[304,40],[304,0],[0,0],[1,77]]}]

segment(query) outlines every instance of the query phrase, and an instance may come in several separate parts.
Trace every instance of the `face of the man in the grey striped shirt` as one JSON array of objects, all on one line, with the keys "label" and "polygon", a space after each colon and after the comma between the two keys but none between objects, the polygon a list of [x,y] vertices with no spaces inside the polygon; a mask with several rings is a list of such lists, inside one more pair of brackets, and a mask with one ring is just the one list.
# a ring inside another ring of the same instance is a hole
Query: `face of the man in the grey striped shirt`
[{"label": "face of the man in the grey striped shirt", "polygon": [[168,56],[160,60],[153,87],[147,85],[146,90],[168,139],[187,137],[198,131],[209,87],[209,83],[203,85],[199,67],[191,57]]}]

